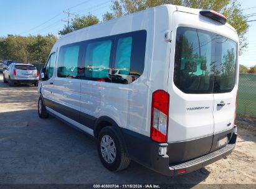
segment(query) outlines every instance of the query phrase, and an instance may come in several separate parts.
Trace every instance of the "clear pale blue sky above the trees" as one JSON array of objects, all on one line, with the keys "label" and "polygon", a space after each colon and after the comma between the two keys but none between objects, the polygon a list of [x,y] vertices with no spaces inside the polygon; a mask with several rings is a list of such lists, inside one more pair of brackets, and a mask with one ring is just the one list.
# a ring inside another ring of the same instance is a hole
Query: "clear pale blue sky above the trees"
[{"label": "clear pale blue sky above the trees", "polygon": [[[256,13],[256,1],[239,0],[244,14]],[[88,12],[97,16],[100,21],[102,15],[110,11],[111,0],[0,0],[0,37],[7,34],[14,35],[57,35],[65,24],[67,14],[70,11],[70,18],[73,14],[78,16],[87,15]],[[255,16],[249,17],[256,20]],[[256,21],[249,22],[247,32],[248,48],[239,57],[239,63],[247,67],[256,65]]]}]

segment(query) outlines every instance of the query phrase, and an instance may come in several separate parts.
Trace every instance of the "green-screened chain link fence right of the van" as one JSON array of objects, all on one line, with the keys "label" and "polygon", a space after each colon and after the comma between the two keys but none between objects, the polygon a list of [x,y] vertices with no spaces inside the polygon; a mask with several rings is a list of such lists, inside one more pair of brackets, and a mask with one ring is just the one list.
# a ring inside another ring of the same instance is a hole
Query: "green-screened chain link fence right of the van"
[{"label": "green-screened chain link fence right of the van", "polygon": [[237,114],[256,118],[256,74],[240,74]]}]

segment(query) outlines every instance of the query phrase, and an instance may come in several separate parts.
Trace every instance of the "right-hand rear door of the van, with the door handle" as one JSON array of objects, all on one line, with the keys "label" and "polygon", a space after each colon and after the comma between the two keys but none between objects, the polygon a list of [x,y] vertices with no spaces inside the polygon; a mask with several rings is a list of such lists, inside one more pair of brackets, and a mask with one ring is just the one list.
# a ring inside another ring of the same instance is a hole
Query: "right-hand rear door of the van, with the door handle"
[{"label": "right-hand rear door of the van, with the door handle", "polygon": [[[225,25],[218,25],[214,68],[214,140],[212,150],[229,142],[234,127],[238,86],[237,35]],[[225,37],[225,35],[228,35]],[[227,132],[224,132],[227,131]]]}]

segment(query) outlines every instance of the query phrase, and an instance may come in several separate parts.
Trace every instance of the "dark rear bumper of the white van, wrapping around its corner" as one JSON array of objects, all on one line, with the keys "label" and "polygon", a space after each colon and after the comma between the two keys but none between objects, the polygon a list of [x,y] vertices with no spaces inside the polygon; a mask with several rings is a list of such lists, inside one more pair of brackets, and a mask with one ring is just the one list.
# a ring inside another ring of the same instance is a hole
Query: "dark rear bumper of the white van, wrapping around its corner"
[{"label": "dark rear bumper of the white van, wrapping around its corner", "polygon": [[[222,159],[223,157],[231,154],[237,139],[237,134],[233,133],[229,143],[224,147],[205,155],[200,155],[194,159],[171,164],[169,162],[170,154],[168,155],[168,143],[159,144],[146,136],[140,136],[138,138],[136,134],[131,134],[131,132],[127,133],[127,129],[125,130],[126,131],[123,131],[123,135],[125,137],[126,144],[128,144],[126,145],[126,148],[131,159],[145,167],[168,176],[183,175],[185,173],[193,172],[194,170]],[[167,154],[159,155],[159,147],[166,147]]]}]

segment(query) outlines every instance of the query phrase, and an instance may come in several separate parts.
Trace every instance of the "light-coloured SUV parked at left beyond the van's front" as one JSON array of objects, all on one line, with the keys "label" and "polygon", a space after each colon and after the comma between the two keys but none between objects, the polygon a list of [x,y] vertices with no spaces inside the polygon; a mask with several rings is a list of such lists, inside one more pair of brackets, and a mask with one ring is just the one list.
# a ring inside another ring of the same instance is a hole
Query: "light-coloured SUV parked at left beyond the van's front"
[{"label": "light-coloured SUV parked at left beyond the van's front", "polygon": [[4,83],[14,86],[16,83],[31,83],[38,85],[39,71],[34,65],[26,63],[11,63],[2,73]]}]

